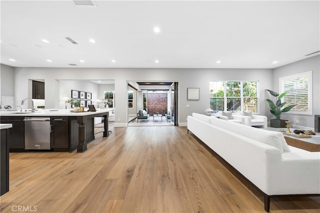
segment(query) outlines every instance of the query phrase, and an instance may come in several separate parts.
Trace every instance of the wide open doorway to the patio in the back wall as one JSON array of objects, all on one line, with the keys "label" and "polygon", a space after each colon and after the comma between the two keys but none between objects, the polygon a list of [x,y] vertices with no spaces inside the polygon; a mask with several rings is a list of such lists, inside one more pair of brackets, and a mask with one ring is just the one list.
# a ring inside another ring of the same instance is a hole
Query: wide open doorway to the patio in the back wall
[{"label": "wide open doorway to the patio in the back wall", "polygon": [[128,126],[178,125],[177,83],[128,81]]}]

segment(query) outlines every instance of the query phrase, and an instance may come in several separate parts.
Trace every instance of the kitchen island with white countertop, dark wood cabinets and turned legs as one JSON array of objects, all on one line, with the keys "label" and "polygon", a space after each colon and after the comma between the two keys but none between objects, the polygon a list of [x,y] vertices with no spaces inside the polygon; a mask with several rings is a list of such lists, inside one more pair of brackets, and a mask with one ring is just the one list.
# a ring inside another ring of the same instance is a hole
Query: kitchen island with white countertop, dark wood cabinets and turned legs
[{"label": "kitchen island with white countertop, dark wood cabinets and turned legs", "polygon": [[114,108],[84,112],[71,112],[70,109],[38,109],[35,112],[25,109],[1,111],[0,122],[12,123],[10,152],[28,151],[24,147],[25,117],[50,118],[50,150],[71,152],[76,149],[77,152],[84,152],[87,149],[87,142],[94,139],[94,117],[104,117],[103,137],[107,137],[108,116],[113,110]]}]

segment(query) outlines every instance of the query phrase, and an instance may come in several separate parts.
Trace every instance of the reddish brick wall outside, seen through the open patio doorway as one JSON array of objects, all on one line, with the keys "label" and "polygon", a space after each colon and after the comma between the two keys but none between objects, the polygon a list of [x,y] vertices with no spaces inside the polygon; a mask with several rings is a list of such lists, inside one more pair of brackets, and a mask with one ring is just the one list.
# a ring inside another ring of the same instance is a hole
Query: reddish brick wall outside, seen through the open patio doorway
[{"label": "reddish brick wall outside, seen through the open patio doorway", "polygon": [[152,116],[155,112],[166,114],[164,107],[167,107],[167,93],[148,92],[148,113]]}]

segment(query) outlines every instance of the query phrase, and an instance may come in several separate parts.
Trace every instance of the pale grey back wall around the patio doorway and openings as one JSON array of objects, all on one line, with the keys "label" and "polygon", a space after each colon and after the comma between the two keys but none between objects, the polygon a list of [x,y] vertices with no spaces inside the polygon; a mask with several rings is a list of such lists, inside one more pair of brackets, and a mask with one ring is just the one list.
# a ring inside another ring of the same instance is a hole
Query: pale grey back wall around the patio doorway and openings
[{"label": "pale grey back wall around the patio doorway and openings", "polygon": [[[264,100],[264,90],[272,88],[272,69],[14,67],[14,82],[18,82],[14,90],[16,100],[22,100],[28,96],[28,79],[45,80],[47,108],[60,108],[60,80],[114,79],[115,126],[127,124],[127,81],[177,81],[179,83],[178,122],[185,124],[187,115],[191,115],[192,112],[204,113],[204,109],[209,107],[209,81],[214,80],[258,80],[260,82],[260,114],[267,114],[268,106]],[[188,87],[200,88],[199,100],[186,99]],[[92,96],[93,100],[94,98],[96,99],[97,96]],[[190,107],[186,107],[186,104]]]}]

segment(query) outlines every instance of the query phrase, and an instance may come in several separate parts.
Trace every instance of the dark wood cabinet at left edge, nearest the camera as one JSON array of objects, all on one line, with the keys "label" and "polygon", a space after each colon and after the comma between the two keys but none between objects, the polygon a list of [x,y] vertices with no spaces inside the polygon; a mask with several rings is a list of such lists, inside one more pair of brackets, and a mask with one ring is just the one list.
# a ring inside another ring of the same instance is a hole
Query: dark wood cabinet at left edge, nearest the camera
[{"label": "dark wood cabinet at left edge, nearest the camera", "polygon": [[0,139],[0,195],[9,191],[9,132],[8,128],[1,129]]}]

